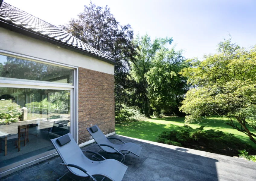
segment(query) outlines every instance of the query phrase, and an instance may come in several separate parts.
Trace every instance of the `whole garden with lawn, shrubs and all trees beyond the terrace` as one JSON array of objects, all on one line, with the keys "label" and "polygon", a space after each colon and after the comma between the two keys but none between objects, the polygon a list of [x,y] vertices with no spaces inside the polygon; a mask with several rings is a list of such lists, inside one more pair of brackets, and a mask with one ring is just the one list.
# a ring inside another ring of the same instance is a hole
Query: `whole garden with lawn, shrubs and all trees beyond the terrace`
[{"label": "whole garden with lawn, shrubs and all trees beyond the terrace", "polygon": [[[102,24],[104,31],[97,28]],[[61,28],[115,59],[117,134],[229,156],[255,154],[255,45],[241,47],[229,35],[216,52],[185,57],[173,46],[175,37],[135,35],[110,8],[92,2]]]}]

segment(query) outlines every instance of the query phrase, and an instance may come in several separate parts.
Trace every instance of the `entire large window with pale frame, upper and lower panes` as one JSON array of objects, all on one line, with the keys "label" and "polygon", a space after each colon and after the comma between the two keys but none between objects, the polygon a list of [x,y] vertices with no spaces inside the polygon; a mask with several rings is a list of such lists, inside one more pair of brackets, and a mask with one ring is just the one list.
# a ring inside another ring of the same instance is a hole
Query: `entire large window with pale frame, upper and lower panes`
[{"label": "entire large window with pale frame, upper and lower panes", "polygon": [[0,55],[0,173],[56,152],[50,140],[74,134],[74,77],[74,68]]}]

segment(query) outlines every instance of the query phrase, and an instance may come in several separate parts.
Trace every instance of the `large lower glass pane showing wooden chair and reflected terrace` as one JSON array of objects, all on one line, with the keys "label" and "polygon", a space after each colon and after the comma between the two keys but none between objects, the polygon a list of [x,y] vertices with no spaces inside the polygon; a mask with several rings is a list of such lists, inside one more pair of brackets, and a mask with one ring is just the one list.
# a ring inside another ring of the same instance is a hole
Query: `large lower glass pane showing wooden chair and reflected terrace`
[{"label": "large lower glass pane showing wooden chair and reflected terrace", "polygon": [[70,132],[70,91],[0,87],[0,169],[54,149]]}]

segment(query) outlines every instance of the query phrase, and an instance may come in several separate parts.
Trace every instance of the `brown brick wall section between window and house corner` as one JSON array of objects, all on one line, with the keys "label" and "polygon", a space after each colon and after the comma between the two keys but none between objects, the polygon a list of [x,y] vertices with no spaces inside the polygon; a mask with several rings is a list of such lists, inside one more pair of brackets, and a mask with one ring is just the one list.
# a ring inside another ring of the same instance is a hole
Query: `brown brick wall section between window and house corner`
[{"label": "brown brick wall section between window and house corner", "polygon": [[86,128],[97,124],[115,131],[114,75],[78,68],[78,144],[90,140]]}]

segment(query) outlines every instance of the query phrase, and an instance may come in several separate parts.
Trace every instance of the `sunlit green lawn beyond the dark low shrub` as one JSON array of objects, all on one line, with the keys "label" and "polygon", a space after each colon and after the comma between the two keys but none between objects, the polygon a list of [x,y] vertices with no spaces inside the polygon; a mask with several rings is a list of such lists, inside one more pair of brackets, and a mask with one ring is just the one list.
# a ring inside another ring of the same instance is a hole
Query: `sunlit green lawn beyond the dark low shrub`
[{"label": "sunlit green lawn beyond the dark low shrub", "polygon": [[[205,126],[205,130],[216,129],[226,133],[232,133],[237,138],[245,141],[256,149],[256,144],[254,144],[247,135],[242,132],[233,129],[231,126],[226,124],[227,119],[222,117],[211,117],[204,119],[200,124],[189,124],[192,128],[198,128],[201,125]],[[139,138],[149,141],[156,141],[157,136],[163,131],[168,131],[170,129],[175,129],[178,126],[184,125],[184,117],[163,117],[163,118],[151,118],[145,121],[138,122],[122,122],[121,124],[116,124],[116,133],[118,135],[129,136],[132,138]],[[238,124],[239,125],[239,124]],[[255,130],[249,128],[251,132],[256,134]]]}]

